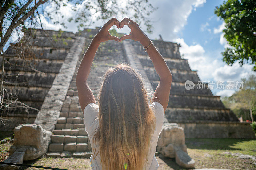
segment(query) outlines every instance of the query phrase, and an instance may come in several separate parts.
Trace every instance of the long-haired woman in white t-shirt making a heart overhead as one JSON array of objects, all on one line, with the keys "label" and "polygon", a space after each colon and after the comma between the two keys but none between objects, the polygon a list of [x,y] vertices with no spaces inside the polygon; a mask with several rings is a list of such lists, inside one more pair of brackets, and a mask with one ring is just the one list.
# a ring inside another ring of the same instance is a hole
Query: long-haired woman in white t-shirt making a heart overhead
[{"label": "long-haired woman in white t-shirt making a heart overhead", "polygon": [[[131,32],[120,39],[111,36],[109,29],[113,25],[117,28],[128,25]],[[132,67],[119,64],[106,71],[97,106],[86,82],[95,53],[101,42],[125,39],[139,41],[144,46],[160,77],[151,105],[148,105],[148,95],[140,75]],[[85,131],[93,151],[90,158],[92,169],[158,168],[155,151],[171,82],[172,75],[163,57],[136,22],[129,18],[121,22],[112,18],[100,29],[84,54],[76,75]]]}]

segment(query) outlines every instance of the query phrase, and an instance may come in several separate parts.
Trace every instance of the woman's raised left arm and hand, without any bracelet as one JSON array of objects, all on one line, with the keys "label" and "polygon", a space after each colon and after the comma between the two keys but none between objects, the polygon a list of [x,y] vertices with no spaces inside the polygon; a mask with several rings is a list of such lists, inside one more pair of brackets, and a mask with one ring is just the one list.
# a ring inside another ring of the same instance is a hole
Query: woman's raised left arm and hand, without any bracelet
[{"label": "woman's raised left arm and hand, without any bracelet", "polygon": [[89,77],[91,67],[92,67],[92,62],[96,54],[96,51],[101,42],[108,41],[108,40],[115,40],[119,42],[118,37],[112,36],[109,33],[109,29],[113,25],[116,25],[117,28],[119,28],[119,23],[120,22],[116,18],[112,18],[106,24],[103,25],[100,31],[92,39],[92,42],[88,47],[88,49],[86,50],[84,57],[79,65],[79,68],[76,74],[76,87],[78,91],[79,103],[83,112],[84,112],[84,108],[89,103],[96,104],[96,100],[93,96],[92,90],[89,88],[87,83],[87,78]]}]

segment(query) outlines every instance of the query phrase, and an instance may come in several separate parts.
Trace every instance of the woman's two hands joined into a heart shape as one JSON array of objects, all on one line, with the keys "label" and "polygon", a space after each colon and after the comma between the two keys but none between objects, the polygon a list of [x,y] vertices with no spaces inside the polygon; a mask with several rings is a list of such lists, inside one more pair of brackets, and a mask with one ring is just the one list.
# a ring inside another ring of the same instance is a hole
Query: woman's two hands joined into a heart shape
[{"label": "woman's two hands joined into a heart shape", "polygon": [[[120,39],[116,36],[112,36],[109,33],[109,29],[116,25],[118,29],[123,28],[124,25],[127,25],[131,32],[129,35],[124,35]],[[103,25],[100,31],[95,35],[94,39],[99,42],[104,42],[108,40],[115,40],[121,42],[125,39],[132,39],[134,41],[142,41],[142,40],[149,40],[147,35],[140,29],[139,25],[132,21],[130,18],[124,18],[121,22],[119,22],[116,18],[110,19],[107,23]]]}]

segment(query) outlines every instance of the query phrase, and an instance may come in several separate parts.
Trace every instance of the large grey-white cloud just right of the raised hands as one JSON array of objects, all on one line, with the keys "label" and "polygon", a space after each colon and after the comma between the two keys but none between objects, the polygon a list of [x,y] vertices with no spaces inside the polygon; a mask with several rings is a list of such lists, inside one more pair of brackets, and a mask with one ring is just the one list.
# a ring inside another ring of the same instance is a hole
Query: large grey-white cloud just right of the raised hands
[{"label": "large grey-white cloud just right of the raised hands", "polygon": [[[192,10],[201,7],[205,2],[206,0],[150,0],[153,6],[159,8],[150,15],[156,31],[148,36],[155,39],[159,37],[160,33],[164,40],[173,41],[178,38],[177,34],[181,33],[182,28],[187,24],[187,19]],[[144,25],[141,28],[145,30]]]}]

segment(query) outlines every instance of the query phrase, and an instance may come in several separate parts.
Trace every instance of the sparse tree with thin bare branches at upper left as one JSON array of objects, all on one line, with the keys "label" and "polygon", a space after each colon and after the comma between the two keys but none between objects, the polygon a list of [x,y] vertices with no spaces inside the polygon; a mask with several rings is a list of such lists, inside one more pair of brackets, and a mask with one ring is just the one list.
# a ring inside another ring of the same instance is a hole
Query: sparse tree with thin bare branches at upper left
[{"label": "sparse tree with thin bare branches at upper left", "polygon": [[[20,103],[21,107],[29,107],[24,103],[18,101],[17,97],[8,97],[12,95],[4,88],[4,84],[10,82],[4,81],[4,63],[15,65],[15,63],[10,63],[4,57],[4,46],[8,44],[8,40],[12,38],[12,33],[18,32],[17,35],[20,36],[20,30],[26,31],[31,30],[31,28],[43,28],[42,17],[47,18],[54,22],[54,24],[60,24],[64,28],[67,28],[64,21],[77,23],[78,31],[82,28],[88,27],[91,24],[92,17],[97,14],[97,20],[108,19],[110,17],[119,16],[124,17],[124,15],[130,15],[136,22],[143,22],[146,25],[147,32],[152,32],[152,25],[150,19],[147,17],[155,11],[154,8],[148,0],[130,0],[125,2],[118,0],[1,0],[0,1],[0,53],[2,53],[1,62],[1,82],[0,82],[0,118],[3,110],[8,109],[14,103]],[[44,4],[55,5],[53,11],[45,11]],[[75,15],[70,16],[70,18],[64,18],[63,13],[60,11],[61,7],[67,5],[72,6],[72,11]],[[91,11],[94,11],[93,13]],[[132,15],[131,15],[132,14]],[[56,17],[58,16],[58,17]],[[63,21],[56,18],[62,18]],[[32,33],[32,32],[31,32]],[[33,36],[33,35],[32,35]],[[17,42],[21,38],[19,37]],[[22,48],[17,48],[21,50],[29,51],[29,44]],[[19,53],[17,51],[17,53]],[[24,54],[24,53],[23,53]],[[26,67],[26,66],[25,66]],[[31,68],[33,70],[33,68]],[[35,70],[34,71],[38,71]],[[15,76],[15,75],[14,75]],[[6,98],[7,96],[7,98]],[[31,108],[31,107],[30,107]],[[35,109],[35,108],[32,108]],[[0,122],[1,123],[1,122]]]}]

